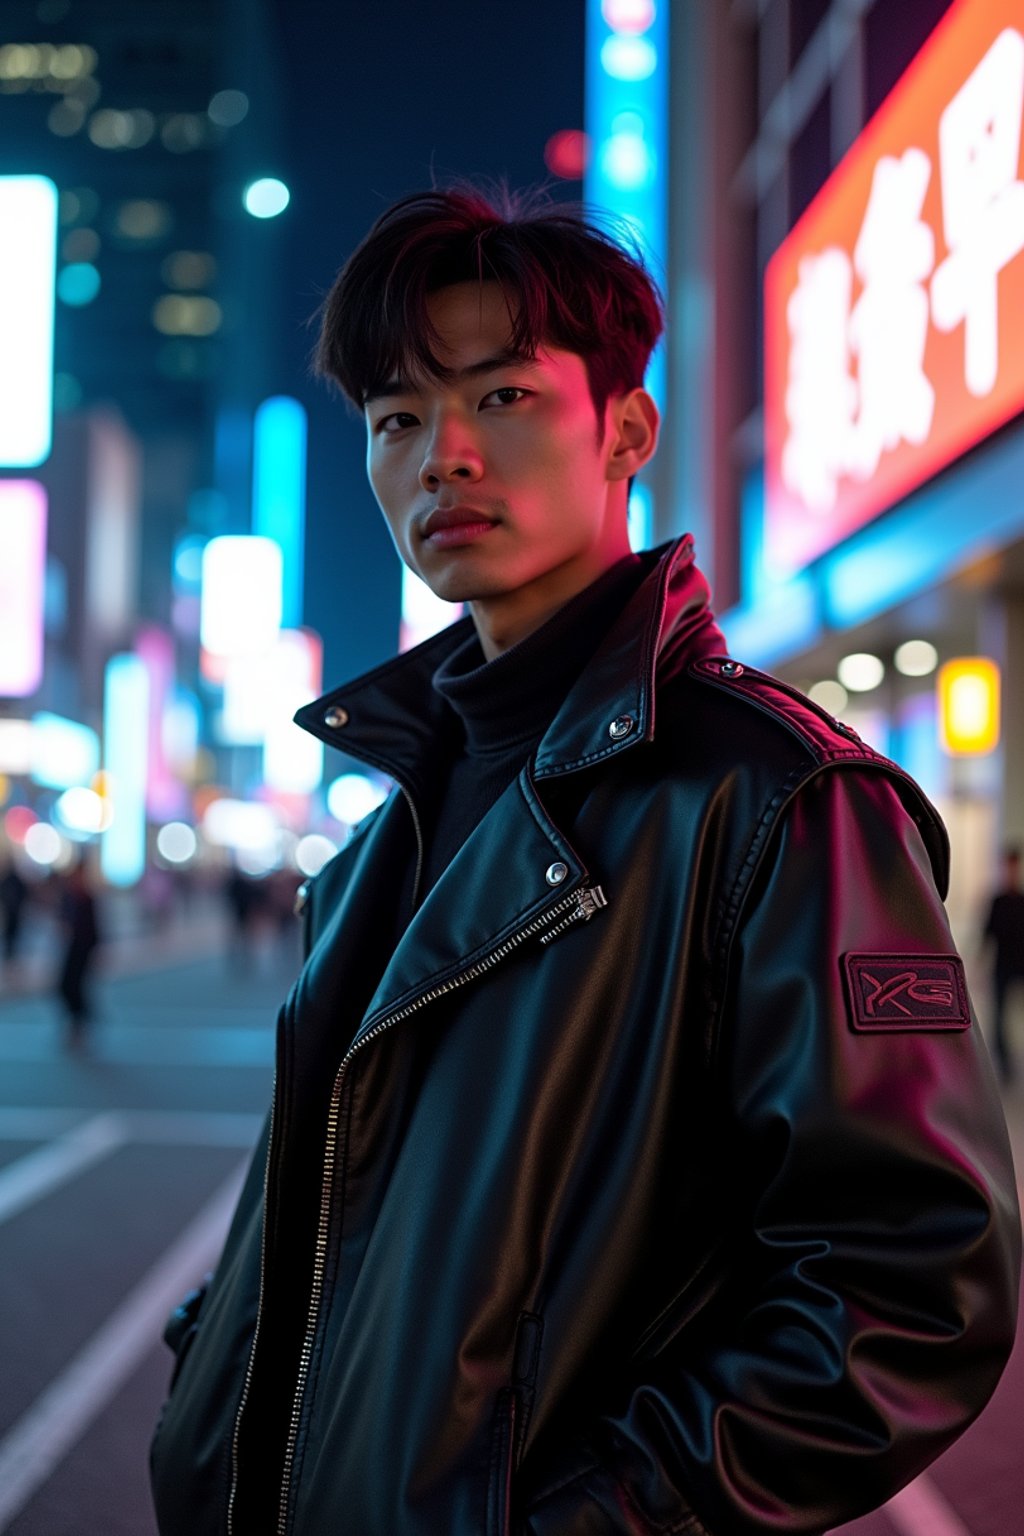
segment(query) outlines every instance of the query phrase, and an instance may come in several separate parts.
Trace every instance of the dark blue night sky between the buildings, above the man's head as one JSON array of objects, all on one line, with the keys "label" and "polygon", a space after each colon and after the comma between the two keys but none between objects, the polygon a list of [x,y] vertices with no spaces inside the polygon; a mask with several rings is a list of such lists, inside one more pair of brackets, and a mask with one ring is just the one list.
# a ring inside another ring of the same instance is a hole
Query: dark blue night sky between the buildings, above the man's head
[{"label": "dark blue night sky between the buildings, above the man's head", "polygon": [[[583,126],[583,0],[275,0],[292,187],[279,387],[310,415],[306,622],[325,685],[396,650],[398,556],[367,485],[364,427],[309,378],[307,324],[395,198],[451,177],[551,181],[548,137]],[[580,197],[580,183],[556,183]]]}]

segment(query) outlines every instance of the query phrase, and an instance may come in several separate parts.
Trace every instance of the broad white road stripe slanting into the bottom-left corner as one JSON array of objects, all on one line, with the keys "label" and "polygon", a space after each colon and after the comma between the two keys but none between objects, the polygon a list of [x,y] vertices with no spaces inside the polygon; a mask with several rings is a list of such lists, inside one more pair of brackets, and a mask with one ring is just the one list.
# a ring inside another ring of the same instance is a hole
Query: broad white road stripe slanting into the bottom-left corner
[{"label": "broad white road stripe slanting into the bottom-left corner", "polygon": [[160,1341],[172,1309],[216,1258],[244,1164],[0,1441],[0,1531]]}]

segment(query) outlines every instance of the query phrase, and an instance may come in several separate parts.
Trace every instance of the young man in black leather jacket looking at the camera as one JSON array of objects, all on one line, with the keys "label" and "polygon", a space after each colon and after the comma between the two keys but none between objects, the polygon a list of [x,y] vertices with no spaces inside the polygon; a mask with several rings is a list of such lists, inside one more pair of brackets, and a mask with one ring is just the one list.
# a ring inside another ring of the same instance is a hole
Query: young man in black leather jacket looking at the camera
[{"label": "young man in black leather jacket looking at the camera", "polygon": [[[649,278],[408,198],[327,300],[401,558],[470,617],[301,711],[396,790],[312,882],[163,1536],[824,1531],[979,1412],[1013,1174],[892,763],[636,556]],[[198,1315],[197,1315],[198,1312]]]}]

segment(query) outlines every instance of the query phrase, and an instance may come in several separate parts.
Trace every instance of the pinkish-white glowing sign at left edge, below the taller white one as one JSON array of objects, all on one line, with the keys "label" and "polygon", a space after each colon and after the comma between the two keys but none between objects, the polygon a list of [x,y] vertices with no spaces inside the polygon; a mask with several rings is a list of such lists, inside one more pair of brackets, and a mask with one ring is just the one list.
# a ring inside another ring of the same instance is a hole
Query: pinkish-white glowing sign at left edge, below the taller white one
[{"label": "pinkish-white glowing sign at left edge, below the taller white one", "polygon": [[25,699],[43,680],[46,492],[0,481],[0,697]]}]

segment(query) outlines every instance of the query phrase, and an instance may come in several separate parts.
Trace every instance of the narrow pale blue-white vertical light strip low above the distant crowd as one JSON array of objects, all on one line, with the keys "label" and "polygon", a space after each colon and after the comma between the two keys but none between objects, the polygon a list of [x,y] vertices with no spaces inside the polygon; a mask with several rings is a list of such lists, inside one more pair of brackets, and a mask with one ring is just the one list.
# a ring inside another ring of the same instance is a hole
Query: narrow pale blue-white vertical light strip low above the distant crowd
[{"label": "narrow pale blue-white vertical light strip low above the distant crowd", "polygon": [[146,869],[149,673],[138,656],[112,656],[103,690],[103,766],[114,820],[103,834],[100,868],[111,885],[135,885]]}]

